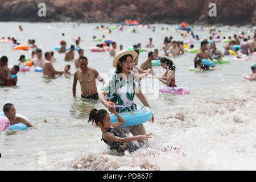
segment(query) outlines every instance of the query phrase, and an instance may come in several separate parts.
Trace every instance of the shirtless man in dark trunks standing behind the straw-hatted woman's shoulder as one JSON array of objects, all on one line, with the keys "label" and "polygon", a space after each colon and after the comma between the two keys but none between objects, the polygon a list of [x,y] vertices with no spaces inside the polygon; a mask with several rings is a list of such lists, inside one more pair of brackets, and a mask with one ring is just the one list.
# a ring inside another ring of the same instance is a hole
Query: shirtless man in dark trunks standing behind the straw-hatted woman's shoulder
[{"label": "shirtless man in dark trunks standing behind the straw-hatted woman's shoulder", "polygon": [[81,97],[87,98],[91,100],[98,100],[98,92],[96,87],[96,78],[98,81],[105,84],[105,81],[98,72],[93,69],[87,67],[88,60],[85,56],[80,57],[79,66],[80,68],[77,69],[74,75],[73,81],[73,96],[76,97],[76,84],[77,80],[79,80],[81,85]]}]

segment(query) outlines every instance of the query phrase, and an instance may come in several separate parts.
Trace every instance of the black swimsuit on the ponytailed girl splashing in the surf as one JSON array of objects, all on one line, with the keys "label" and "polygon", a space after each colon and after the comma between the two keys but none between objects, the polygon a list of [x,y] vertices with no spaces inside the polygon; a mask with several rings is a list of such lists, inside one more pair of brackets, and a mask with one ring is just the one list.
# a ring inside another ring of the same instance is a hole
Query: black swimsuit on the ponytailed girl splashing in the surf
[{"label": "black swimsuit on the ponytailed girl splashing in the surf", "polygon": [[[115,135],[115,137],[121,137],[121,138],[126,138],[127,137],[125,134],[123,134],[118,129],[113,129],[111,127],[110,127],[110,129],[106,130],[104,133],[106,133],[106,132],[113,133]],[[135,145],[133,142],[127,142],[127,143],[113,142],[113,143],[109,143],[108,141],[106,141],[103,138],[104,133],[102,133],[102,139],[101,140],[103,140],[106,144],[108,144],[110,146],[110,150],[117,150],[117,152],[124,155],[124,152],[126,150],[128,150],[129,152],[134,152],[134,151],[139,149],[139,147],[137,145]],[[119,146],[122,146],[124,144],[127,145],[126,148],[122,149],[122,148],[119,147]]]}]

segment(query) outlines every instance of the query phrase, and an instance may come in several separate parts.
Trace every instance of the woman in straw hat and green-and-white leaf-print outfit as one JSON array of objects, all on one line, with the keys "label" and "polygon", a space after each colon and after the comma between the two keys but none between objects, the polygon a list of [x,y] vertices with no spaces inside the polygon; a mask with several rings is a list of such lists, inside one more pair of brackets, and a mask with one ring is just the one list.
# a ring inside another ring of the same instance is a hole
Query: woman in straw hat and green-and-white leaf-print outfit
[{"label": "woman in straw hat and green-and-white leaf-print outfit", "polygon": [[[115,107],[117,113],[123,111],[132,111],[137,109],[134,104],[134,96],[136,95],[144,106],[150,107],[144,94],[141,92],[139,82],[132,72],[133,60],[138,56],[135,51],[122,49],[117,53],[113,60],[113,67],[117,68],[114,73],[110,75],[100,94],[100,101],[102,104],[112,110]],[[109,103],[114,102],[114,104]],[[150,121],[154,122],[154,114]],[[135,135],[144,135],[146,131],[142,124],[127,126],[121,128],[123,133]],[[144,144],[143,140],[138,140],[139,144]]]}]

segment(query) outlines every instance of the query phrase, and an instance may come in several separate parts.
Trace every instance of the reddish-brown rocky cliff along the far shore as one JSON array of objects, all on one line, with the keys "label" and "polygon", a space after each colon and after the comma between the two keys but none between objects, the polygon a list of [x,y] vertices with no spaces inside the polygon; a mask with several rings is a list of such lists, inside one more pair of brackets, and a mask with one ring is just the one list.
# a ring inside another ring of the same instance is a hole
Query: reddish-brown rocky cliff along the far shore
[{"label": "reddish-brown rocky cliff along the far shore", "polygon": [[[39,17],[38,4],[46,4],[46,17]],[[209,3],[216,3],[217,16],[210,17]],[[0,21],[105,22],[255,25],[255,0],[0,0]]]}]

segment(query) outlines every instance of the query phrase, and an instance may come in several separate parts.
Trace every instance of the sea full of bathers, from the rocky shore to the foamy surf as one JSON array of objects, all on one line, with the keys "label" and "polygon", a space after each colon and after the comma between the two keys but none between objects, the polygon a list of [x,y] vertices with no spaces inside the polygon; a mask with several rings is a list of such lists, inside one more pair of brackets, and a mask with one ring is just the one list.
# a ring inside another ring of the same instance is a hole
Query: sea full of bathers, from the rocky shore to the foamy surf
[{"label": "sea full of bathers, from the rocky shore to the foamy surf", "polygon": [[0,27],[1,170],[256,169],[254,28]]}]

